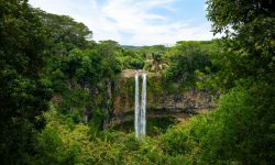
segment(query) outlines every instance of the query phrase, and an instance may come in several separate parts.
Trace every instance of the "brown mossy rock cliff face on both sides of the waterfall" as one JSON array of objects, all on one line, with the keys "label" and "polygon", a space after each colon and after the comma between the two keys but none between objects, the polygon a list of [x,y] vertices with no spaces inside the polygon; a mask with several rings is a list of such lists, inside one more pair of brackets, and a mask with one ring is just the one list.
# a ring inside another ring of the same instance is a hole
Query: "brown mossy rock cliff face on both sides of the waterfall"
[{"label": "brown mossy rock cliff face on both sides of the waterfall", "polygon": [[[160,114],[176,116],[199,113],[202,110],[211,109],[211,97],[209,95],[197,90],[180,91],[177,86],[177,84],[165,84],[161,75],[147,74],[147,114],[151,117]],[[123,70],[118,76],[112,99],[114,118],[123,120],[127,114],[133,114],[134,70]]]}]

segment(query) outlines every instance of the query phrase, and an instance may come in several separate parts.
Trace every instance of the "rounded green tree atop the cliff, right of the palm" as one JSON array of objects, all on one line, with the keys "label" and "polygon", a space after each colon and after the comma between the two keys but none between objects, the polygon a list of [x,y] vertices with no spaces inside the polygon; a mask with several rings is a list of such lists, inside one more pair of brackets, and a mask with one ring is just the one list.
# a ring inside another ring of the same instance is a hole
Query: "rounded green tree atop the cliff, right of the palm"
[{"label": "rounded green tree atop the cliff, right of the palm", "polygon": [[211,67],[208,53],[200,48],[199,42],[177,42],[168,52],[169,66],[165,69],[168,80],[180,82],[185,88],[196,87],[196,70],[206,72]]}]

